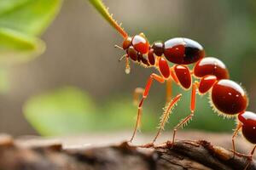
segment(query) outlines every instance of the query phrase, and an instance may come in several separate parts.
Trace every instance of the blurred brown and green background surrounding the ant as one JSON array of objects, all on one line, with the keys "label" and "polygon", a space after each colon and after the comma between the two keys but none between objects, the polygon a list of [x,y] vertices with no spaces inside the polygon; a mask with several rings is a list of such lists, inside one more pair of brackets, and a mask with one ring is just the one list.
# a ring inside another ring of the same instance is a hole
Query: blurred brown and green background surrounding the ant
[{"label": "blurred brown and green background surrounding the ant", "polygon": [[[256,2],[232,0],[104,0],[130,35],[144,32],[150,42],[189,37],[207,56],[224,61],[230,78],[246,88],[249,111],[256,111]],[[47,49],[37,59],[0,67],[0,132],[13,135],[68,135],[129,131],[137,106],[133,90],[144,87],[154,69],[131,65],[113,48],[119,36],[86,0],[65,0],[44,32]],[[154,83],[144,103],[143,132],[153,133],[165,106],[166,86]],[[183,99],[166,124],[171,129],[189,115],[190,92],[173,85]],[[212,111],[208,96],[197,97],[196,114],[185,129],[228,132],[235,119]],[[36,129],[36,130],[35,130]]]}]

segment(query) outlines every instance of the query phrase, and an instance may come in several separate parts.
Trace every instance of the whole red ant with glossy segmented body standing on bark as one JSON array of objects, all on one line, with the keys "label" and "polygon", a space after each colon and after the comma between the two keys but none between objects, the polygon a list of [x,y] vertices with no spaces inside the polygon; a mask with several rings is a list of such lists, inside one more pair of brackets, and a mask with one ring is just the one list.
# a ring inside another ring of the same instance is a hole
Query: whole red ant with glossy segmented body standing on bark
[{"label": "whole red ant with glossy segmented body standing on bark", "polygon": [[[189,116],[185,117],[174,127],[172,144],[175,142],[177,129],[186,125],[195,114],[195,96],[198,91],[201,95],[209,94],[212,107],[219,115],[237,116],[238,123],[232,137],[234,156],[237,154],[235,137],[239,130],[241,130],[243,136],[249,142],[255,144],[251,154],[248,156],[252,160],[254,150],[256,149],[256,114],[246,111],[248,105],[247,94],[239,84],[229,80],[229,72],[224,63],[213,57],[204,58],[205,51],[201,44],[189,38],[177,37],[166,42],[154,42],[150,45],[143,33],[129,37],[124,29],[113,20],[108,10],[105,10],[105,12],[108,15],[108,22],[124,37],[122,47],[117,45],[115,47],[126,52],[119,59],[126,59],[125,72],[130,72],[129,60],[131,59],[134,63],[143,65],[145,68],[154,67],[160,73],[151,74],[148,77],[145,88],[136,88],[135,90],[135,99],[137,99],[138,94],[143,94],[143,98],[138,104],[137,122],[130,142],[132,142],[136,135],[137,127],[142,117],[143,102],[148,97],[152,82],[154,80],[161,83],[167,82],[167,100],[169,102],[166,105],[163,116],[161,116],[159,131],[152,143],[144,145],[145,147],[154,146],[154,142],[164,129],[173,106],[182,97],[182,94],[177,94],[173,99],[170,98],[172,94],[170,82],[173,81],[185,90],[191,88],[191,103]],[[175,65],[170,67],[167,61]],[[190,64],[195,64],[193,71],[190,71],[187,66]],[[193,82],[192,77],[197,80]]]}]

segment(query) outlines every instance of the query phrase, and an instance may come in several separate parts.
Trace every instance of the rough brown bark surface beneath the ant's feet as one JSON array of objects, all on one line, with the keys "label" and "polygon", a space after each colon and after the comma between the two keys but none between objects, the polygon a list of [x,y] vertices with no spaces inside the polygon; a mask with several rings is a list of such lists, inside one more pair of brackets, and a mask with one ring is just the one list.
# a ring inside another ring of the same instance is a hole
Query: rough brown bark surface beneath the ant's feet
[{"label": "rough brown bark surface beneath the ant's feet", "polygon": [[235,156],[230,150],[207,141],[180,140],[143,149],[127,143],[104,147],[63,149],[60,143],[19,144],[0,137],[0,170],[167,170],[256,169],[255,161]]}]

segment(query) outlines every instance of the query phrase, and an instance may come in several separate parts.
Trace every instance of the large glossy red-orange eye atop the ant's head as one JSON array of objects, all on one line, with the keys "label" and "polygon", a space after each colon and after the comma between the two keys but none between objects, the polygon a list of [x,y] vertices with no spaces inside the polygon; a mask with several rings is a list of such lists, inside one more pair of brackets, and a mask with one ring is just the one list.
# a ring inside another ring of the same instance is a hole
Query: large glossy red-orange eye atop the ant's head
[{"label": "large glossy red-orange eye atop the ant's head", "polygon": [[146,38],[137,35],[132,38],[131,43],[132,43],[132,46],[137,50],[137,52],[139,52],[141,54],[148,53],[149,43],[146,40]]}]

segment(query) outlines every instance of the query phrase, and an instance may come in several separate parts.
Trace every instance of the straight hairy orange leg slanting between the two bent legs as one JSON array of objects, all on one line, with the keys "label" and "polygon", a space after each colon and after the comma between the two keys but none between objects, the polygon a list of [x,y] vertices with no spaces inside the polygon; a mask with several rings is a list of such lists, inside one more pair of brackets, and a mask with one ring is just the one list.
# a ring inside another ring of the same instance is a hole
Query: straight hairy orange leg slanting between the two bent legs
[{"label": "straight hairy orange leg slanting between the two bent legs", "polygon": [[177,96],[174,99],[172,99],[170,104],[167,105],[163,116],[161,116],[161,118],[160,118],[160,127],[159,127],[158,132],[156,133],[156,136],[154,137],[154,140],[152,142],[153,144],[154,144],[155,140],[158,138],[158,136],[160,135],[161,131],[164,130],[165,124],[168,121],[168,118],[172,113],[172,108],[174,105],[177,104],[177,101],[181,98],[181,96],[182,96],[182,94],[177,94]]}]

